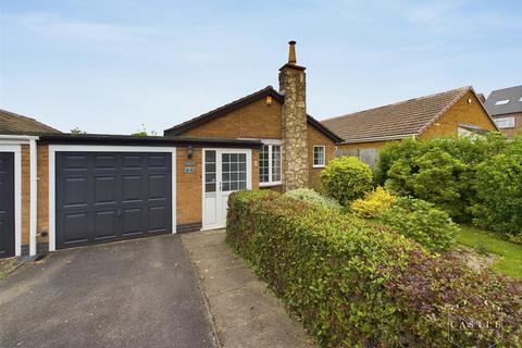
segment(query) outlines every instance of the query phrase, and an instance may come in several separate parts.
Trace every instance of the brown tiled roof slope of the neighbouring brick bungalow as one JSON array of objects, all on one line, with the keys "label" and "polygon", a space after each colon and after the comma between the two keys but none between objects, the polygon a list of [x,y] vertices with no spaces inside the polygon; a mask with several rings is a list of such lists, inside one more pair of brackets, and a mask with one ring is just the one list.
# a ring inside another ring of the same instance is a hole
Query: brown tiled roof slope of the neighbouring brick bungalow
[{"label": "brown tiled roof slope of the neighbouring brick bungalow", "polygon": [[470,90],[470,86],[457,88],[327,119],[322,124],[343,142],[402,139],[421,134]]}]

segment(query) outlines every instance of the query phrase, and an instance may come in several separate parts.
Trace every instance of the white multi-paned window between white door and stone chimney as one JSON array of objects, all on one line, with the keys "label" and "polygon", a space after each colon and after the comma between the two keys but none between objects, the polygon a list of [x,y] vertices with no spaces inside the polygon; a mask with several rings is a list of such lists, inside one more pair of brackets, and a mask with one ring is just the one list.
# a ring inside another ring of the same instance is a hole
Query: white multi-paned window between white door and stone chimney
[{"label": "white multi-paned window between white door and stone chimney", "polygon": [[259,185],[281,185],[283,183],[281,141],[263,142],[259,150]]}]

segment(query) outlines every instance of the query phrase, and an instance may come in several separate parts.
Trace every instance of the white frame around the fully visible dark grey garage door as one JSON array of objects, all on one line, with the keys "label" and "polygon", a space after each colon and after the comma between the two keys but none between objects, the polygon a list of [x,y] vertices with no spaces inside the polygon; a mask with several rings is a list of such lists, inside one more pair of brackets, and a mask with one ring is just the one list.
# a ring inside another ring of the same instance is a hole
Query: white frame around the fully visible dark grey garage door
[{"label": "white frame around the fully visible dark grey garage door", "polygon": [[172,153],[172,234],[176,233],[176,148],[104,145],[49,145],[49,251],[57,250],[57,152],[170,152]]}]

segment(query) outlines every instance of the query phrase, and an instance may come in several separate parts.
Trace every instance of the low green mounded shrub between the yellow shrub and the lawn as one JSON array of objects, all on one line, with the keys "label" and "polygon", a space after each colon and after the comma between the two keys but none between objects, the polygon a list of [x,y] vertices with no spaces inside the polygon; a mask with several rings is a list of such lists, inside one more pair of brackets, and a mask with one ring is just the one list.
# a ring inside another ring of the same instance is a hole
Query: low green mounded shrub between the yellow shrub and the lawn
[{"label": "low green mounded shrub between the yellow shrub and the lawn", "polygon": [[433,251],[448,250],[459,228],[447,213],[432,203],[409,197],[398,197],[380,217],[386,226]]}]

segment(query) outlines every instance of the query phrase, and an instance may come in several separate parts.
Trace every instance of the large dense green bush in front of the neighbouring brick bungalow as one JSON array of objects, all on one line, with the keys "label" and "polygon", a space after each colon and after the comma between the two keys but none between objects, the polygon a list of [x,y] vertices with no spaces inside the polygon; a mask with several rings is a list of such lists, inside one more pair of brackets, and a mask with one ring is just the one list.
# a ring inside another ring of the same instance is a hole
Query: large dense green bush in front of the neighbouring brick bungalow
[{"label": "large dense green bush in front of the neighbouring brick bungalow", "polygon": [[477,202],[476,167],[517,142],[509,145],[498,133],[474,139],[406,139],[380,151],[375,177],[398,195],[427,200],[456,221],[470,222]]}]

